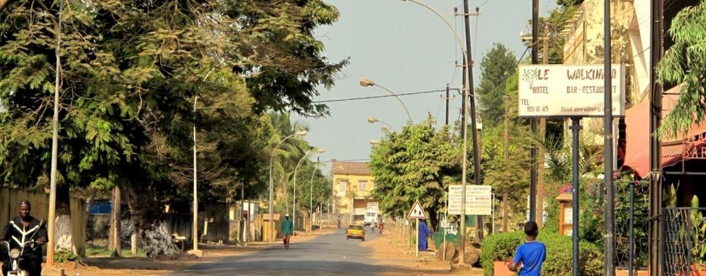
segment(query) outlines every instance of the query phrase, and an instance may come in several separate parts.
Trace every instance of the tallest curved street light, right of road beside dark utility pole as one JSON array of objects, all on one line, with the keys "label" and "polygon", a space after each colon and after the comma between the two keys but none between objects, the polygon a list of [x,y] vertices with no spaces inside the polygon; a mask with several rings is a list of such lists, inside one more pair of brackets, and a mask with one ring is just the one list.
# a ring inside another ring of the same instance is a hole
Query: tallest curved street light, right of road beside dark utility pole
[{"label": "tallest curved street light, right of road beside dark utility pole", "polygon": [[[465,101],[466,99],[468,99],[468,91],[469,91],[469,89],[470,89],[471,87],[473,87],[473,85],[471,84],[471,82],[473,81],[473,79],[472,79],[472,77],[471,77],[470,68],[471,68],[472,64],[471,64],[471,60],[468,58],[468,51],[467,51],[468,49],[466,48],[466,45],[463,44],[463,41],[462,41],[462,39],[461,39],[461,36],[458,34],[458,32],[456,32],[456,30],[455,30],[455,28],[453,27],[453,25],[451,25],[451,23],[450,23],[445,17],[443,17],[443,15],[442,15],[441,13],[439,13],[439,11],[436,11],[436,9],[431,8],[431,6],[428,6],[428,5],[426,5],[426,4],[424,4],[424,3],[421,3],[420,1],[417,1],[417,0],[402,0],[402,1],[410,1],[410,2],[412,2],[412,3],[414,3],[414,4],[418,4],[419,6],[423,6],[424,8],[426,8],[426,9],[428,9],[429,11],[433,12],[433,13],[436,14],[439,18],[441,18],[441,20],[443,20],[443,22],[446,23],[446,25],[449,27],[449,29],[451,30],[451,32],[453,32],[453,35],[456,37],[456,42],[458,42],[458,45],[460,46],[461,53],[463,54],[463,58],[464,58],[464,60],[466,61],[466,65],[465,65],[464,68],[463,68],[463,69],[464,69],[464,73],[465,73],[465,77],[467,78],[467,87],[464,87],[464,89],[463,89],[463,99],[464,99],[464,101]],[[470,42],[469,42],[469,44],[470,44]],[[472,99],[472,101],[474,101],[474,100],[475,100],[475,99]],[[464,103],[464,110],[465,110],[465,112],[463,113],[464,122],[467,122],[466,118],[468,118],[468,108],[465,108],[465,107],[466,107],[466,106],[465,106],[466,104],[467,104],[467,101],[465,101],[465,103]],[[471,117],[471,124],[472,124],[473,126],[475,126],[475,124],[476,124],[476,120],[475,120],[475,117],[474,117],[474,116]],[[462,165],[463,165],[463,168],[462,168],[462,175],[461,175],[461,179],[462,179],[462,180],[461,180],[461,184],[462,184],[462,189],[461,189],[461,212],[462,212],[462,215],[461,215],[461,225],[462,225],[462,231],[460,232],[460,233],[461,233],[460,239],[461,239],[461,241],[462,241],[462,245],[461,245],[461,247],[460,247],[460,256],[459,256],[459,261],[460,261],[460,262],[459,262],[459,263],[463,263],[463,261],[464,261],[464,255],[465,255],[464,251],[465,251],[465,234],[466,234],[466,233],[465,233],[465,222],[466,222],[466,182],[467,182],[467,181],[466,181],[466,180],[467,180],[467,179],[466,179],[466,178],[467,178],[467,177],[466,177],[466,175],[467,175],[467,173],[466,173],[466,166],[467,166],[467,165],[466,165],[466,164],[467,164],[467,162],[468,162],[468,161],[467,161],[467,151],[468,151],[468,142],[467,142],[467,135],[468,135],[468,132],[467,132],[467,129],[468,129],[468,123],[463,123],[463,124],[462,124],[462,130],[463,130],[463,152],[462,152],[463,163],[462,163]],[[475,169],[475,174],[474,174],[474,175],[475,175],[475,179],[476,179],[476,180],[479,180],[479,177],[480,177],[480,167],[479,167],[479,165],[480,165],[480,156],[479,156],[478,144],[477,144],[477,137],[476,137],[475,131],[473,132],[473,140],[474,140],[474,143],[473,143],[473,149],[474,149],[474,150],[473,150],[473,159],[474,159],[474,163],[473,163],[473,165],[474,165],[474,169]],[[476,181],[476,184],[480,184],[479,181]]]}]

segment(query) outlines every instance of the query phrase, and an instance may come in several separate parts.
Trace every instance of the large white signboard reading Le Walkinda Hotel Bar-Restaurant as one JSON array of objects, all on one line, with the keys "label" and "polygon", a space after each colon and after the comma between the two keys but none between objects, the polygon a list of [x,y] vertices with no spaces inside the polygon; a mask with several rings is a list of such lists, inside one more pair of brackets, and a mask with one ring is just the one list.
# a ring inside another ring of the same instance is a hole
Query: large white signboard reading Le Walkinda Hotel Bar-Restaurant
[{"label": "large white signboard reading Le Walkinda Hotel Bar-Restaurant", "polygon": [[[521,65],[520,117],[603,117],[604,65]],[[611,67],[613,115],[625,115],[625,67]]]}]

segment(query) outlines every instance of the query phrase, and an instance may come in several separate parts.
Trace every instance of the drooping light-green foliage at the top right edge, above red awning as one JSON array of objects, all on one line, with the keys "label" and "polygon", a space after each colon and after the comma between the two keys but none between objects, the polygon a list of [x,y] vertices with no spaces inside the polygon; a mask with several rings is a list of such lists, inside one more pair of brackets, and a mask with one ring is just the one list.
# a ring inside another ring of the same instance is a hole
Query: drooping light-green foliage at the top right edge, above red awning
[{"label": "drooping light-green foliage at the top right edge, above red awning", "polygon": [[682,84],[674,109],[662,122],[659,132],[676,136],[693,123],[706,121],[706,1],[677,13],[669,35],[674,45],[657,68],[657,79],[665,87]]}]

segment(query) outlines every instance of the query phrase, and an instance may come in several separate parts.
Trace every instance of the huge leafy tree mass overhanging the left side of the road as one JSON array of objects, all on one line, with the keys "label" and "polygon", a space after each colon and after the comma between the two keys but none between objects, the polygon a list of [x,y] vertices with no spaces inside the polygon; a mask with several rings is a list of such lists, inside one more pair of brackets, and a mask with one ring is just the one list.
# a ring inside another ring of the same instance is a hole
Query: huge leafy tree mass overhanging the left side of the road
[{"label": "huge leafy tree mass overhanging the left side of the road", "polygon": [[186,192],[193,126],[199,181],[262,183],[264,158],[249,160],[268,156],[258,115],[325,114],[311,97],[347,61],[321,56],[312,30],[337,15],[318,0],[12,1],[0,11],[2,184],[31,187],[49,173],[60,33],[60,184],[124,187],[148,256],[175,253],[162,208],[145,206]]}]

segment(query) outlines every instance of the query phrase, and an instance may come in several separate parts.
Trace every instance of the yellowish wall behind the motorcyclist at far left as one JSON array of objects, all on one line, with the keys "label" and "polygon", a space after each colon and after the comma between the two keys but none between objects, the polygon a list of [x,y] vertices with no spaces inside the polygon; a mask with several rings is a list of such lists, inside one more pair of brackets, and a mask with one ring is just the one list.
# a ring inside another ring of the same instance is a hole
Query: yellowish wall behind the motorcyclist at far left
[{"label": "yellowish wall behind the motorcyclist at far left", "polygon": [[[39,194],[23,191],[20,189],[0,189],[0,225],[8,223],[12,218],[19,215],[17,204],[22,200],[32,203],[32,216],[38,220],[47,220],[49,213],[49,194]],[[85,201],[76,197],[69,200],[71,208],[71,231],[73,245],[76,246],[76,253],[85,256],[86,239],[86,211]]]}]

